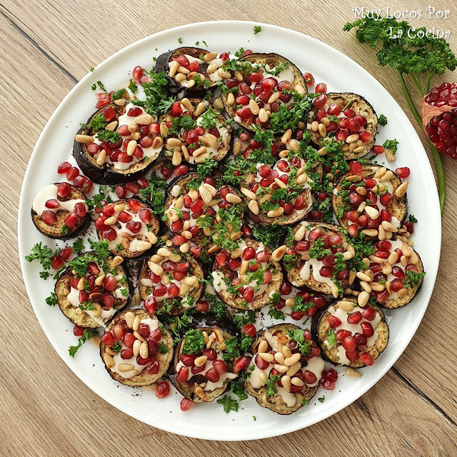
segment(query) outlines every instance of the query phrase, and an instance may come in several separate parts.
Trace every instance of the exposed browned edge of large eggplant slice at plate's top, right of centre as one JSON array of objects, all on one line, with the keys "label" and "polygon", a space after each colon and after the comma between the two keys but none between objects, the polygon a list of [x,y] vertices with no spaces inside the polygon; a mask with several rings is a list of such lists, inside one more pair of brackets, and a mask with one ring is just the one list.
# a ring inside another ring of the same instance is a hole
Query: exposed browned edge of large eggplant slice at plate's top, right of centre
[{"label": "exposed browned edge of large eggplant slice at plate's top, right of centre", "polygon": [[[278,66],[280,64],[288,64],[288,69],[291,69],[291,71],[293,72],[293,76],[294,76],[294,79],[292,82],[292,89],[294,89],[296,86],[299,85],[304,89],[305,92],[307,92],[307,88],[306,88],[307,86],[306,86],[305,80],[303,79],[303,74],[298,69],[298,67],[295,64],[293,64],[290,60],[286,59],[286,57],[280,56],[279,54],[275,54],[275,53],[266,54],[266,53],[259,52],[259,53],[254,53],[254,54],[248,54],[247,56],[244,56],[242,59],[240,59],[240,61],[241,62],[242,61],[251,62],[251,64],[259,65],[259,66],[269,65],[270,67]],[[251,81],[249,81],[248,76],[246,76],[246,71],[241,70],[241,74],[243,74],[244,82],[246,82],[246,84],[251,86],[252,83],[251,83]],[[226,93],[222,92],[221,98],[222,98],[222,101],[224,102],[224,107],[226,109],[226,112],[227,112],[227,114],[229,114],[231,119],[234,119],[236,116],[236,105],[229,105],[227,103],[227,97],[228,97],[228,93],[226,94]],[[238,124],[248,131],[255,131],[255,129],[253,128],[253,125],[248,124],[246,121],[238,122]],[[271,130],[271,123],[269,121],[264,125],[265,125],[264,129]],[[275,132],[275,133],[281,133],[281,132]]]}]

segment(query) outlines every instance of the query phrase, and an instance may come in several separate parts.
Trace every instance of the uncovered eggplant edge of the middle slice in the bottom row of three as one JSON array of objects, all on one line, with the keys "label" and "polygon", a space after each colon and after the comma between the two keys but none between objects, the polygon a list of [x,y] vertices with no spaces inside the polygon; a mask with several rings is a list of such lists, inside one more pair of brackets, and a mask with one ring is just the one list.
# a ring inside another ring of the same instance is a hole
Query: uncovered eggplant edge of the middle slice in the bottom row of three
[{"label": "uncovered eggplant edge of the middle slice in the bottom row of three", "polygon": [[[210,334],[212,331],[214,331],[214,328],[211,327],[198,327],[196,328],[197,330],[203,332],[206,331],[206,333]],[[222,332],[222,335],[224,336],[224,340],[229,340],[232,338],[232,335],[230,333],[227,333],[226,331],[222,330],[219,328]],[[229,386],[230,380],[228,379],[227,382],[224,384],[222,387],[215,388],[214,391],[204,391],[206,395],[206,401],[203,398],[200,398],[196,393],[195,393],[195,388],[199,386],[200,383],[206,382],[206,378],[202,375],[194,375],[192,376],[189,381],[186,381],[184,383],[181,383],[179,381],[176,381],[176,366],[179,363],[179,358],[181,357],[181,354],[183,353],[183,346],[184,346],[184,339],[182,339],[178,346],[176,346],[176,351],[174,355],[174,386],[178,389],[179,393],[181,395],[185,396],[186,398],[189,398],[189,400],[193,401],[194,403],[209,403],[211,401],[214,401],[214,399],[218,398],[221,396],[226,390],[227,387]],[[233,359],[231,359],[231,362],[233,362]],[[208,362],[207,362],[208,363]],[[227,372],[233,373],[232,368],[233,363],[227,363]],[[189,367],[190,370],[190,367]]]}]

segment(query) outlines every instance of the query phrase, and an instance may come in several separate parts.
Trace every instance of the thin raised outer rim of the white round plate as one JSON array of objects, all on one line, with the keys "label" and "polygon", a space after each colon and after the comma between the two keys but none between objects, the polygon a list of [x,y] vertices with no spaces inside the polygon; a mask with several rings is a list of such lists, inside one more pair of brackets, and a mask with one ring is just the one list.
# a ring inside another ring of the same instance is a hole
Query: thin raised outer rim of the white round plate
[{"label": "thin raised outer rim of the white round plate", "polygon": [[[27,164],[27,167],[26,167],[26,171],[25,171],[25,174],[24,174],[24,179],[23,179],[22,186],[21,186],[21,196],[20,196],[20,199],[19,199],[19,209],[18,209],[18,251],[19,251],[19,260],[20,260],[20,264],[21,264],[22,276],[24,278],[24,284],[26,286],[27,294],[29,295],[29,301],[31,303],[32,308],[34,309],[35,316],[36,316],[37,320],[39,321],[40,326],[41,326],[41,328],[43,329],[43,331],[44,331],[44,333],[46,335],[46,338],[48,338],[49,342],[51,343],[51,346],[53,346],[53,348],[56,351],[56,353],[58,353],[59,356],[61,357],[61,359],[64,361],[64,363],[66,363],[66,366],[69,367],[71,372],[74,373],[84,383],[84,385],[86,387],[90,388],[91,391],[96,393],[96,395],[98,395],[101,398],[103,398],[104,401],[109,403],[114,408],[119,409],[123,413],[126,413],[128,416],[136,418],[136,420],[144,422],[149,426],[154,426],[156,428],[160,428],[161,430],[168,431],[170,433],[175,433],[175,434],[178,434],[178,435],[181,435],[181,436],[189,436],[191,438],[200,438],[200,439],[206,439],[206,440],[209,440],[209,438],[207,438],[206,436],[202,436],[199,433],[193,433],[191,431],[182,431],[182,432],[181,431],[176,431],[176,430],[173,429],[172,426],[163,425],[161,423],[154,423],[153,424],[151,422],[148,422],[148,421],[146,421],[146,419],[144,417],[139,417],[139,415],[136,415],[136,411],[134,411],[134,412],[126,411],[127,408],[124,408],[124,406],[115,405],[114,404],[115,401],[112,401],[111,398],[109,398],[109,394],[105,394],[104,391],[100,391],[100,390],[97,390],[97,389],[93,388],[92,385],[89,385],[91,383],[88,383],[88,382],[84,381],[84,379],[81,377],[82,373],[81,373],[81,376],[80,376],[80,373],[77,373],[76,371],[73,370],[73,368],[71,368],[71,366],[69,364],[69,358],[68,358],[67,354],[64,351],[62,351],[61,348],[59,348],[59,345],[56,344],[56,341],[54,341],[54,338],[50,338],[49,333],[46,332],[46,330],[45,330],[47,325],[46,325],[46,322],[44,321],[44,316],[40,316],[41,313],[39,311],[37,312],[37,310],[39,310],[39,308],[34,306],[34,303],[31,300],[31,291],[33,290],[32,283],[34,281],[36,281],[36,278],[32,279],[32,278],[27,277],[26,274],[24,274],[26,261],[24,259],[24,233],[22,233],[24,231],[24,226],[23,226],[23,224],[21,224],[21,221],[22,221],[22,219],[24,219],[24,214],[28,214],[29,213],[29,211],[26,208],[24,208],[24,206],[25,206],[24,201],[26,200],[26,197],[24,196],[24,194],[25,194],[24,193],[24,188],[26,186],[26,182],[29,181],[29,179],[30,179],[30,175],[32,173],[31,170],[33,168],[33,163],[38,158],[38,151],[39,151],[39,149],[41,147],[41,143],[45,141],[44,139],[47,136],[47,131],[49,129],[51,129],[51,124],[53,124],[54,119],[56,119],[59,116],[61,111],[64,111],[65,106],[66,106],[66,101],[72,96],[74,91],[77,91],[79,89],[79,86],[83,86],[84,84],[86,84],[86,81],[88,81],[89,79],[93,78],[94,77],[94,73],[97,72],[97,69],[103,69],[104,66],[108,66],[112,60],[116,59],[116,57],[119,56],[119,54],[122,54],[124,52],[128,52],[130,49],[133,49],[136,46],[143,46],[143,44],[146,43],[147,41],[149,41],[150,39],[161,39],[161,38],[166,37],[169,34],[178,34],[178,33],[181,33],[181,32],[184,33],[186,30],[189,30],[189,29],[194,29],[194,28],[198,28],[198,27],[201,27],[201,26],[205,26],[205,25],[206,26],[214,25],[214,24],[218,24],[218,23],[219,24],[220,23],[224,23],[224,24],[233,25],[233,26],[237,26],[238,25],[238,26],[242,26],[242,27],[260,25],[260,26],[265,26],[266,29],[271,29],[271,31],[273,31],[273,32],[275,32],[275,31],[278,31],[280,33],[286,32],[291,37],[300,36],[302,39],[304,37],[304,39],[308,39],[311,42],[314,42],[314,43],[318,44],[319,46],[323,46],[326,49],[326,51],[330,51],[331,53],[338,54],[339,58],[341,58],[343,60],[346,60],[348,62],[351,62],[351,65],[355,65],[356,68],[358,69],[358,71],[361,72],[364,80],[368,79],[371,84],[374,84],[375,86],[376,85],[379,86],[380,89],[385,92],[387,98],[389,99],[388,103],[389,104],[393,104],[393,106],[397,107],[398,111],[397,111],[396,114],[398,114],[398,116],[403,117],[403,119],[408,124],[411,125],[413,133],[418,139],[418,144],[421,144],[421,151],[423,151],[423,154],[427,159],[426,161],[424,161],[424,165],[427,168],[426,174],[431,174],[431,176],[433,176],[433,181],[435,181],[435,184],[436,184],[436,180],[434,178],[433,169],[431,167],[430,159],[428,158],[428,154],[426,153],[426,150],[423,147],[423,143],[422,143],[420,137],[418,136],[415,127],[413,126],[413,124],[411,124],[411,121],[408,119],[408,116],[406,116],[406,113],[403,111],[403,109],[401,109],[401,106],[399,106],[399,104],[396,101],[396,99],[393,98],[393,96],[388,92],[388,90],[383,86],[383,84],[381,84],[371,73],[369,73],[366,69],[364,69],[360,64],[358,64],[356,61],[353,61],[353,59],[351,59],[346,54],[343,54],[343,52],[338,51],[338,49],[333,48],[333,46],[330,46],[329,44],[326,44],[323,41],[320,41],[320,40],[314,38],[313,36],[309,36],[307,34],[303,34],[300,31],[296,31],[296,30],[293,30],[293,29],[288,29],[288,28],[283,27],[283,26],[276,26],[276,25],[273,25],[273,24],[267,24],[267,23],[262,23],[262,22],[258,22],[258,21],[219,20],[219,21],[195,22],[195,23],[192,23],[192,24],[184,24],[184,25],[181,25],[181,26],[177,26],[177,27],[174,27],[174,28],[171,28],[171,29],[165,29],[165,30],[156,32],[155,34],[151,34],[149,36],[145,36],[144,38],[139,39],[138,41],[134,41],[133,43],[129,44],[128,46],[125,46],[124,48],[119,49],[114,54],[111,54],[111,56],[107,57],[106,59],[104,59],[104,61],[101,61],[96,66],[96,68],[94,69],[94,72],[92,72],[92,73],[89,72],[88,74],[86,74],[77,84],[75,84],[75,86],[71,89],[71,91],[69,91],[69,93],[66,94],[64,99],[60,102],[59,106],[57,106],[56,110],[53,112],[53,114],[51,114],[51,117],[46,122],[46,125],[44,126],[44,129],[41,131],[39,139],[36,141],[36,145],[34,146],[34,150],[31,153],[31,156],[30,156],[30,159],[29,159],[29,163]],[[437,191],[436,185],[433,186],[432,194],[433,194],[433,196],[431,196],[431,199],[435,201],[436,207],[439,208],[438,191]],[[280,427],[281,430],[278,431],[278,432],[275,432],[274,428],[272,429],[272,427],[262,428],[260,430],[256,430],[256,436],[255,437],[245,436],[244,434],[241,434],[241,436],[228,437],[228,436],[224,435],[224,433],[220,434],[219,431],[217,431],[217,433],[216,433],[217,437],[216,438],[211,438],[210,441],[258,440],[258,439],[263,439],[263,438],[270,438],[270,437],[273,437],[273,436],[281,436],[281,435],[286,434],[286,433],[291,433],[293,431],[298,431],[298,430],[301,430],[303,428],[306,428],[308,426],[311,426],[311,425],[313,425],[315,423],[318,423],[320,421],[325,420],[326,418],[329,418],[329,417],[333,416],[334,414],[336,414],[339,411],[341,411],[343,408],[346,408],[346,406],[348,406],[351,403],[353,403],[354,401],[356,401],[364,393],[366,393],[369,389],[371,389],[374,386],[374,384],[376,384],[387,373],[387,371],[389,371],[391,369],[393,364],[396,363],[398,358],[406,350],[406,347],[411,342],[411,339],[413,338],[413,336],[416,334],[418,326],[421,324],[423,316],[426,313],[426,309],[428,308],[428,303],[429,303],[430,298],[431,298],[431,293],[433,293],[433,288],[434,288],[435,283],[436,283],[436,276],[437,276],[437,273],[438,273],[439,259],[440,259],[440,255],[441,255],[441,243],[442,243],[441,214],[440,214],[440,218],[438,219],[438,221],[439,221],[439,224],[438,224],[438,227],[436,227],[436,230],[437,230],[438,235],[439,235],[439,247],[440,247],[440,250],[438,251],[438,257],[436,258],[436,262],[435,262],[436,263],[436,268],[433,268],[435,270],[435,272],[433,273],[433,275],[431,275],[431,274],[429,274],[429,271],[427,271],[427,282],[433,283],[433,286],[430,288],[429,293],[427,294],[426,298],[424,299],[423,309],[421,309],[421,311],[417,315],[418,316],[417,324],[411,327],[411,333],[408,335],[408,337],[407,338],[403,338],[401,340],[401,342],[400,342],[401,351],[399,351],[398,354],[393,356],[391,358],[391,360],[388,361],[386,368],[383,368],[383,369],[381,369],[381,371],[376,373],[376,376],[373,378],[373,380],[365,381],[363,387],[360,388],[359,391],[357,391],[356,393],[351,393],[351,396],[348,396],[348,398],[350,398],[348,401],[342,401],[341,403],[338,404],[338,406],[336,406],[336,408],[333,408],[333,409],[330,408],[328,413],[323,413],[323,414],[320,414],[320,415],[316,415],[315,417],[313,417],[313,416],[307,417],[306,418],[306,425],[303,425],[303,423],[302,423],[303,421],[301,421],[300,419],[297,418],[297,421],[295,423],[293,423],[291,426],[281,426]],[[424,293],[424,291],[422,291],[422,293]],[[278,428],[278,427],[276,427],[276,428]]]}]

